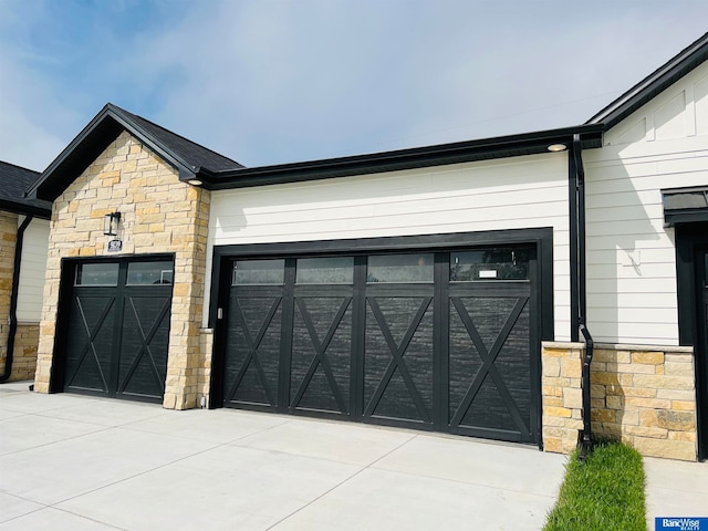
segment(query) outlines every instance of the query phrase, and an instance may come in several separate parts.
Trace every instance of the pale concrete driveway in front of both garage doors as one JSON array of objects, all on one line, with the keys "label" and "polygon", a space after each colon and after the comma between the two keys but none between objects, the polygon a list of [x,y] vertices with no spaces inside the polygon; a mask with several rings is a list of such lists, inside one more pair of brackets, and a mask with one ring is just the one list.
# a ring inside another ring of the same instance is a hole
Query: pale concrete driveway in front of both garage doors
[{"label": "pale concrete driveway in front of both garage doors", "polygon": [[565,456],[0,386],[0,530],[538,530]]}]

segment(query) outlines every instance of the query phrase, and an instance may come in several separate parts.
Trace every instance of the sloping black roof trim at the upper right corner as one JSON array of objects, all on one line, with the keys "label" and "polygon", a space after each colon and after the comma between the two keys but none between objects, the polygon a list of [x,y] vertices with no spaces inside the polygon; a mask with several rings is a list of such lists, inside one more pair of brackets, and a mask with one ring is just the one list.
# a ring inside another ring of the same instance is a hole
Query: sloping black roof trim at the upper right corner
[{"label": "sloping black roof trim at the upper right corner", "polygon": [[704,63],[706,59],[708,59],[708,33],[600,111],[586,124],[604,124],[605,131],[610,129]]}]

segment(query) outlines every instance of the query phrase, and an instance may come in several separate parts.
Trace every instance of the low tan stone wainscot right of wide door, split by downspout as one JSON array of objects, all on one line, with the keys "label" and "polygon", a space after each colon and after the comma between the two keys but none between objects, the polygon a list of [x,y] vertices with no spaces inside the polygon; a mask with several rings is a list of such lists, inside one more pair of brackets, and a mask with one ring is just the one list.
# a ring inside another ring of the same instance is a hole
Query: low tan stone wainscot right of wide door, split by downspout
[{"label": "low tan stone wainscot right of wide door, split by downspout", "polygon": [[[543,446],[570,452],[582,429],[583,343],[543,343]],[[594,437],[652,457],[698,455],[693,347],[597,344],[591,364]]]}]

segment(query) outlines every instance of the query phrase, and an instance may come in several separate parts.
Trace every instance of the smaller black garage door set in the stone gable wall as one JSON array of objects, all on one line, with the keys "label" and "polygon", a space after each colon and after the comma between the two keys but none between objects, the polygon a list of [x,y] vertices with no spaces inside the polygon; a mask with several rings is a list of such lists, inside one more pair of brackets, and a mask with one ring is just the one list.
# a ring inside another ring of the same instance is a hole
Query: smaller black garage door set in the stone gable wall
[{"label": "smaller black garage door set in the stone gable wall", "polygon": [[66,266],[63,391],[162,402],[167,373],[171,260]]}]

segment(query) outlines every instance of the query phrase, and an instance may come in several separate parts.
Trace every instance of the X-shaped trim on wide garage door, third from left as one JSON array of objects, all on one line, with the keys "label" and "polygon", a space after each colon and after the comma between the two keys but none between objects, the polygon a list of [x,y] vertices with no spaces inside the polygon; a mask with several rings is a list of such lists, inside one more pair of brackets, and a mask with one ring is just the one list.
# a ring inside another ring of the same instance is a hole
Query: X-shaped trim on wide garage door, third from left
[{"label": "X-shaped trim on wide garage door, third from left", "polygon": [[410,393],[410,397],[413,398],[416,405],[418,415],[420,416],[424,423],[430,423],[430,415],[428,414],[425,407],[425,404],[423,403],[423,398],[420,397],[420,394],[418,393],[418,389],[416,388],[416,385],[413,382],[413,378],[410,377],[410,373],[408,372],[408,367],[406,366],[406,362],[404,361],[403,355],[405,354],[406,350],[408,348],[408,345],[410,344],[410,341],[413,340],[413,336],[418,330],[418,325],[420,324],[420,321],[423,321],[425,312],[428,310],[428,306],[430,305],[430,301],[433,301],[433,298],[427,296],[423,300],[423,302],[420,303],[420,306],[418,308],[418,311],[413,317],[413,321],[408,325],[406,335],[404,335],[403,340],[400,341],[400,344],[397,344],[396,340],[394,340],[394,336],[391,333],[391,329],[386,323],[386,317],[384,317],[384,314],[381,311],[381,306],[378,305],[378,302],[376,301],[376,299],[374,299],[373,296],[369,296],[367,300],[368,300],[368,305],[372,309],[372,312],[374,312],[374,317],[376,317],[378,327],[384,334],[384,339],[386,340],[386,344],[388,345],[388,350],[391,351],[391,355],[393,357],[388,363],[388,367],[386,367],[386,372],[384,373],[384,376],[382,377],[381,382],[378,383],[378,386],[376,387],[376,392],[374,393],[374,395],[372,396],[372,399],[366,406],[366,410],[364,412],[364,415],[371,416],[374,414],[382,396],[384,395],[384,392],[386,391],[386,387],[391,383],[391,378],[394,375],[394,371],[398,368],[398,372],[400,373],[400,376],[403,377],[403,381],[405,382],[406,387],[408,388],[408,393]]}]

